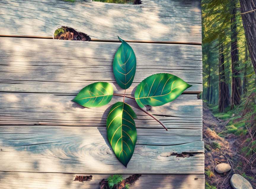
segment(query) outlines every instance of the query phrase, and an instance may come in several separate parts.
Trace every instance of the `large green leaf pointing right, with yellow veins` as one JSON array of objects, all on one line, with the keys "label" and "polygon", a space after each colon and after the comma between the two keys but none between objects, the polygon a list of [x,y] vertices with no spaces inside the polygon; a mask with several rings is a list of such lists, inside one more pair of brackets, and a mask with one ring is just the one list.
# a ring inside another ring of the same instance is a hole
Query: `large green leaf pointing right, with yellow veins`
[{"label": "large green leaf pointing right, with yellow veins", "polygon": [[137,86],[135,100],[141,108],[145,105],[161,106],[175,100],[191,86],[172,74],[154,74]]}]

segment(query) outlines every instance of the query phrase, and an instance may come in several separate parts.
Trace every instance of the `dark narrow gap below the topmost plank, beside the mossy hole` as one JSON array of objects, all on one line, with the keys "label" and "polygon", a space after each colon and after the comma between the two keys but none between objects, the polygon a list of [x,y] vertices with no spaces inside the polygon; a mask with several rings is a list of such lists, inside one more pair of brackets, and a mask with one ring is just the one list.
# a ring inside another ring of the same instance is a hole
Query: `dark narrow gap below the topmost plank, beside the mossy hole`
[{"label": "dark narrow gap below the topmost plank, beside the mossy hole", "polygon": [[[32,35],[0,35],[0,37],[7,37],[7,38],[32,38],[32,39],[53,39],[52,37],[32,36]],[[105,40],[105,39],[91,39],[90,41],[92,41],[92,42],[93,41],[95,41],[95,42],[109,42],[109,43],[120,42],[119,40]],[[129,43],[158,43],[158,44],[202,45],[202,43],[178,42],[178,41],[138,41],[138,40],[126,40],[126,42],[129,42]]]}]

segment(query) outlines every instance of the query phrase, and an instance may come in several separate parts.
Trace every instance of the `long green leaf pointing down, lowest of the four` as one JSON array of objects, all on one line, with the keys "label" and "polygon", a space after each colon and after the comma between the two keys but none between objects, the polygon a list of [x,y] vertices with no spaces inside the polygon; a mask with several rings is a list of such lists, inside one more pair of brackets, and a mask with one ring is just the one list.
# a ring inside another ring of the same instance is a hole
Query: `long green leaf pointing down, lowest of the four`
[{"label": "long green leaf pointing down, lowest of the four", "polygon": [[119,161],[127,167],[137,141],[137,130],[132,108],[123,102],[116,102],[108,113],[108,140]]}]

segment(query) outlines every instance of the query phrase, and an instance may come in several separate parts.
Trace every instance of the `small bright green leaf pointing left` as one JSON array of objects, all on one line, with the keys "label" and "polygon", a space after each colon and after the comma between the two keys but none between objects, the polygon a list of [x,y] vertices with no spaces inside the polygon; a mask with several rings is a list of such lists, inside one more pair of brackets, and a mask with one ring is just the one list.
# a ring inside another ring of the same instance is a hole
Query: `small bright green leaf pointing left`
[{"label": "small bright green leaf pointing left", "polygon": [[73,99],[84,107],[100,107],[113,97],[113,87],[107,82],[96,82],[84,87]]}]

